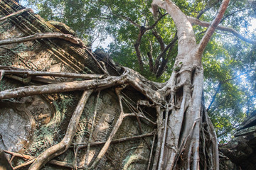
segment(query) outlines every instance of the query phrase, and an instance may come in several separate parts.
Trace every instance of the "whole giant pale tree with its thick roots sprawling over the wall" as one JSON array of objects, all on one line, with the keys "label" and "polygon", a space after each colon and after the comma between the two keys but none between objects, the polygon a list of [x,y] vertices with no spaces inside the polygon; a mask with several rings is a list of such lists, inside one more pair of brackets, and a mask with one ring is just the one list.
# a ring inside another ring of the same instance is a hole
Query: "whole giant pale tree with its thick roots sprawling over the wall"
[{"label": "whole giant pale tree with its thick roots sprawling over the wall", "polygon": [[[94,169],[95,166],[97,166],[102,157],[106,154],[107,149],[110,147],[110,143],[114,142],[113,137],[122,125],[124,118],[128,116],[136,116],[138,122],[140,122],[139,118],[151,122],[151,120],[146,118],[143,112],[139,110],[139,106],[146,106],[155,109],[154,116],[156,117],[157,125],[157,142],[155,148],[154,142],[152,144],[148,169],[218,169],[217,137],[213,125],[208,118],[203,100],[202,55],[215,29],[218,28],[218,24],[223,18],[228,3],[229,0],[223,0],[215,19],[209,24],[198,21],[196,18],[186,16],[171,0],[154,0],[152,2],[151,11],[155,18],[154,24],[159,21],[159,18],[161,19],[164,16],[159,12],[159,8],[162,8],[169,13],[173,19],[177,31],[174,36],[174,42],[176,40],[178,41],[178,51],[173,66],[173,72],[169,75],[169,80],[163,84],[148,81],[137,72],[126,67],[122,67],[122,74],[120,76],[112,75],[108,72],[104,62],[102,64],[102,62],[97,61],[89,50],[86,51],[92,55],[92,60],[94,60],[97,67],[101,70],[103,76],[64,73],[51,74],[50,72],[29,72],[20,70],[12,70],[12,72],[8,70],[3,71],[1,76],[3,74],[25,73],[32,76],[58,75],[60,77],[91,79],[42,86],[26,86],[0,92],[0,98],[6,99],[63,91],[85,91],[78,102],[78,107],[75,109],[73,116],[70,119],[63,140],[57,145],[46,149],[46,151],[39,154],[36,159],[31,160],[33,164],[30,169],[40,169],[46,162],[49,162],[50,159],[63,154],[63,152],[70,147],[75,135],[75,130],[78,127],[80,115],[82,114],[87,99],[92,94],[92,90],[100,91],[102,89],[109,89],[110,87],[115,87],[115,93],[117,94],[120,108],[119,118],[117,118],[109,137],[104,142],[104,146],[100,149],[96,159],[93,162],[88,162],[88,160],[86,160],[85,163],[87,164],[82,166],[82,168]],[[127,19],[129,20],[129,18]],[[202,24],[203,26],[208,27],[206,33],[198,43],[196,42],[196,35],[193,31],[193,23],[199,25]],[[138,42],[134,44],[138,59],[141,57],[139,53],[140,38],[142,38],[142,34],[145,33],[144,31],[146,31],[146,29],[149,30],[150,26],[147,28],[139,28],[140,35],[137,39]],[[161,38],[159,38],[156,32],[154,32],[154,36],[161,44]],[[80,40],[73,38],[71,35],[63,35],[60,33],[39,33],[26,38],[1,40],[0,44],[6,45],[30,40],[40,40],[42,38],[60,38],[87,49]],[[174,42],[171,42],[167,49],[169,49]],[[162,52],[166,52],[166,47],[162,47]],[[152,54],[149,52],[149,59],[151,55]],[[163,56],[160,54],[160,57]],[[155,64],[159,58],[156,57]],[[166,58],[162,58],[162,63],[164,63],[164,59]],[[142,62],[142,60],[139,62]],[[143,69],[143,64],[139,63],[139,65],[140,68]],[[149,66],[150,65],[151,69],[154,70],[152,63],[150,64],[149,62]],[[158,67],[160,68],[161,65],[158,65]],[[155,69],[156,73],[159,68]],[[132,86],[132,88],[139,91],[145,97],[144,100],[137,101],[137,108],[130,106],[133,113],[124,113],[122,106],[122,90],[127,86]],[[92,132],[90,133],[89,142],[91,135]],[[90,145],[87,145],[87,148],[90,149]],[[154,157],[152,156],[153,153]],[[150,164],[151,159],[153,162],[152,164]]]}]

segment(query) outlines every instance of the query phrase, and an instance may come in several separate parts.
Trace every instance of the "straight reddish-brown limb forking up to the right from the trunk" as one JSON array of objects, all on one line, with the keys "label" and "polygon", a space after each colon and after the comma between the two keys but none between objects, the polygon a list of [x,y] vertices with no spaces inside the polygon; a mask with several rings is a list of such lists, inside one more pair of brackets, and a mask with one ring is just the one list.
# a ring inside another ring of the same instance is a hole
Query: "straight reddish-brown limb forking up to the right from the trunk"
[{"label": "straight reddish-brown limb forking up to the right from the trunk", "polygon": [[210,26],[206,31],[206,34],[203,36],[202,40],[199,42],[198,48],[196,50],[196,53],[198,55],[201,56],[201,54],[203,54],[203,51],[205,50],[206,45],[208,44],[215,29],[218,27],[218,24],[220,23],[221,18],[223,18],[225,10],[228,8],[229,1],[230,0],[223,0],[222,4],[220,5],[217,16],[215,17],[213,22],[210,23]]}]

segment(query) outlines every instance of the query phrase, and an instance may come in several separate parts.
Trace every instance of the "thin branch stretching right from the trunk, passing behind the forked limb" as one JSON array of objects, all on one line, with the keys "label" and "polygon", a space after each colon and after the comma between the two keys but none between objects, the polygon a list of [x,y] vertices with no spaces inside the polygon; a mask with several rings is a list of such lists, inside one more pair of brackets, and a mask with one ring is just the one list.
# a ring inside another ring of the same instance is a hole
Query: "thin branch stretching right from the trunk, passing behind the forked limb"
[{"label": "thin branch stretching right from the trunk, passing behind the forked limb", "polygon": [[[210,23],[206,22],[206,21],[200,21],[197,18],[193,18],[191,16],[188,16],[188,20],[193,23],[196,24],[198,26],[203,26],[203,27],[209,27]],[[244,36],[242,36],[240,33],[238,33],[235,29],[233,28],[228,28],[225,26],[217,26],[216,28],[217,30],[223,30],[223,31],[227,31],[229,33],[232,33],[233,35],[235,35],[237,38],[239,38],[240,40],[243,40],[245,42],[248,42],[250,44],[256,44],[255,40],[250,40],[248,38],[245,38]]]}]

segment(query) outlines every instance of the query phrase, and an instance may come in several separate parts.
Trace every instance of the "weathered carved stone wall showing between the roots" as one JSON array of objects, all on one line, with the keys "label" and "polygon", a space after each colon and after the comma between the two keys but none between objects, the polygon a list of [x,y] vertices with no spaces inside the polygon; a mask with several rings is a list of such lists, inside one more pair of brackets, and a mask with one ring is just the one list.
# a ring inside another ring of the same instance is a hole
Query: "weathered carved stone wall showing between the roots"
[{"label": "weathered carved stone wall showing between the roots", "polygon": [[[12,0],[0,1],[0,17],[23,9]],[[0,40],[18,38],[34,33],[61,32],[62,28],[52,26],[40,16],[26,11],[0,22]],[[70,33],[72,32],[69,30]],[[111,61],[105,61],[105,66],[112,75],[122,74],[122,69],[115,67]],[[80,72],[102,74],[92,56],[85,48],[73,45],[65,40],[43,39],[23,42],[19,44],[2,45],[0,47],[1,65],[48,72]],[[56,81],[72,81],[47,77]],[[26,75],[18,77],[4,77],[0,81],[0,90],[13,89],[27,84],[43,84],[38,81],[28,81]],[[24,84],[26,82],[26,84]],[[132,94],[132,95],[131,95]],[[0,101],[0,149],[12,152],[37,156],[48,147],[60,142],[65,135],[69,120],[80,98],[80,91],[63,94],[48,94],[43,96],[28,96],[26,98],[13,98]],[[92,120],[95,118],[95,128],[92,142],[107,140],[110,132],[120,114],[120,107],[114,88],[100,92],[97,105],[97,92],[90,96],[80,118],[74,143],[87,142]],[[130,106],[136,107],[139,99],[145,99],[129,86],[122,92],[125,113],[132,113]],[[145,113],[151,115],[155,121],[153,108],[146,108]],[[127,117],[114,136],[132,137],[151,132],[155,127],[142,120],[142,132],[139,129],[137,118]],[[105,157],[102,158],[96,169],[146,169],[149,161],[151,141],[153,137],[144,137],[110,145]],[[102,145],[92,146],[89,160],[95,160]],[[73,164],[73,148],[56,159]],[[78,164],[85,162],[86,147],[78,152]],[[24,162],[16,158],[13,166]],[[65,169],[58,166],[47,165],[43,169]]]}]

